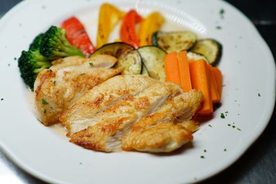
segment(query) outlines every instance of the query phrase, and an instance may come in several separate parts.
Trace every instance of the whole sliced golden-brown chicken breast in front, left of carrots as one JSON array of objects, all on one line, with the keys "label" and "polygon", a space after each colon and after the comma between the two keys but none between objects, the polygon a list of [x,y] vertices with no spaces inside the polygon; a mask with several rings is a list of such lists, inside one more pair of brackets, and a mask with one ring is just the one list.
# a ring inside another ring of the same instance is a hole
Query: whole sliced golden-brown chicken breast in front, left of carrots
[{"label": "whole sliced golden-brown chicken breast in front, left of carrots", "polygon": [[[183,93],[175,83],[115,76],[89,90],[60,121],[70,141],[88,149],[170,152],[193,140],[197,126],[188,120],[201,100],[201,92]],[[179,116],[186,117],[190,129],[177,121]]]}]

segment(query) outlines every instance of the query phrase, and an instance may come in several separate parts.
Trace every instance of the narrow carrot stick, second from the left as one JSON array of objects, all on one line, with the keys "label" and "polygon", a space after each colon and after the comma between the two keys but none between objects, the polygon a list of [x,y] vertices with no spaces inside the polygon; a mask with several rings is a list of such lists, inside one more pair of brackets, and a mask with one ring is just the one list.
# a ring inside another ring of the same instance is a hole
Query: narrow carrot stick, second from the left
[{"label": "narrow carrot stick, second from the left", "polygon": [[186,51],[179,52],[177,54],[177,59],[178,59],[181,87],[184,92],[188,92],[192,90],[192,84],[190,83],[190,70],[189,70],[187,52]]}]

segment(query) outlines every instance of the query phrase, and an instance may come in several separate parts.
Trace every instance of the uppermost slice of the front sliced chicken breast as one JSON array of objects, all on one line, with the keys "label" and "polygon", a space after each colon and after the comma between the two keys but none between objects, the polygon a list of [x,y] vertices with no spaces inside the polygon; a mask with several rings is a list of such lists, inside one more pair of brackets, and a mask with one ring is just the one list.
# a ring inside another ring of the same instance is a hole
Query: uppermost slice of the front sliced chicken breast
[{"label": "uppermost slice of the front sliced chicken breast", "polygon": [[150,85],[155,85],[155,79],[144,75],[119,75],[108,79],[105,83],[89,90],[73,104],[59,119],[68,130],[68,136],[86,129],[97,122],[100,112],[129,95],[137,95]]}]

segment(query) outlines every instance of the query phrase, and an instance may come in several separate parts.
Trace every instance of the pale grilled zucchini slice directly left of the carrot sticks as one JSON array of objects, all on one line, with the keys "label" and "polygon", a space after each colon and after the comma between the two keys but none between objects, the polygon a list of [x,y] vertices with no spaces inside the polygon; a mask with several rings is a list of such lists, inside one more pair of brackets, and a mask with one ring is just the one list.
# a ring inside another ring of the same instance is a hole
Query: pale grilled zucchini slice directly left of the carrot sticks
[{"label": "pale grilled zucchini slice directly left of the carrot sticks", "polygon": [[138,52],[141,54],[142,62],[150,77],[159,81],[166,81],[164,57],[167,52],[156,46],[144,46],[138,48]]}]

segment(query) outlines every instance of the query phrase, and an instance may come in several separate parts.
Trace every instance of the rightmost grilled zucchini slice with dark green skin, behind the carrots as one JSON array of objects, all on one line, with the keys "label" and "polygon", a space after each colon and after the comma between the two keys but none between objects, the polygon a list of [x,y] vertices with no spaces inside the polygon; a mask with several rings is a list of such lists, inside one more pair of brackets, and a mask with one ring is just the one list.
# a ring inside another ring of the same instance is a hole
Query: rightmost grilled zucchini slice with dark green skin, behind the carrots
[{"label": "rightmost grilled zucchini slice with dark green skin, behind the carrots", "polygon": [[211,65],[217,65],[221,59],[222,45],[214,39],[201,39],[190,51],[204,55]]}]

